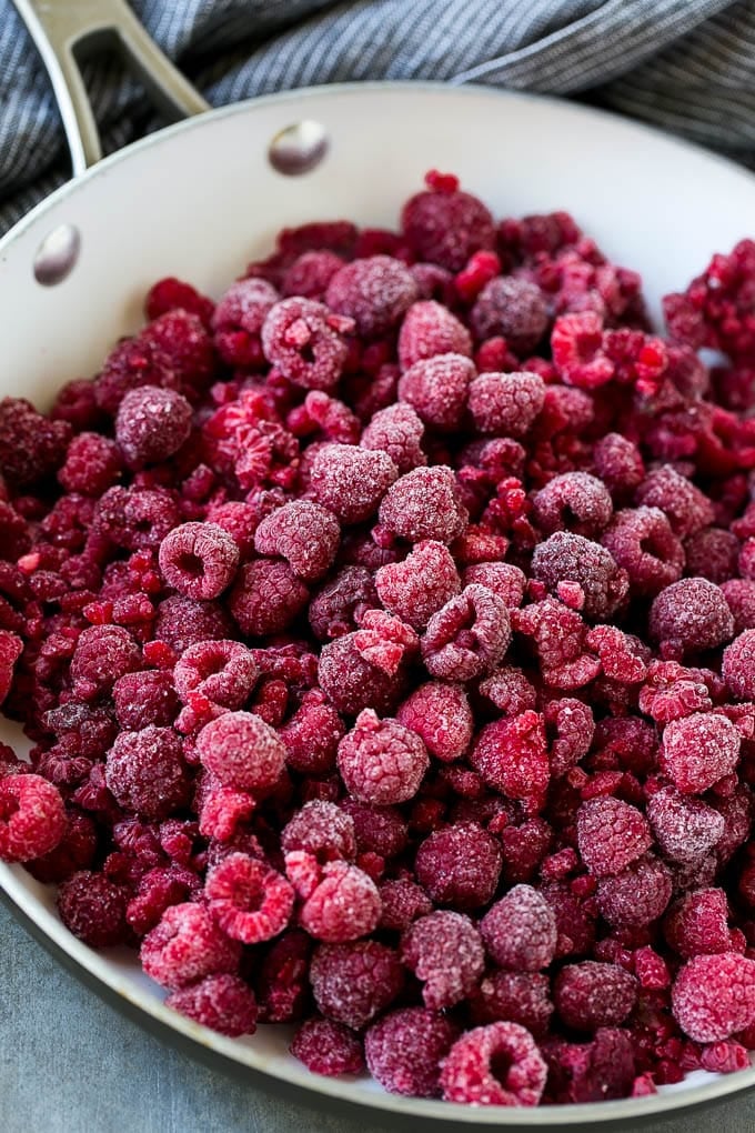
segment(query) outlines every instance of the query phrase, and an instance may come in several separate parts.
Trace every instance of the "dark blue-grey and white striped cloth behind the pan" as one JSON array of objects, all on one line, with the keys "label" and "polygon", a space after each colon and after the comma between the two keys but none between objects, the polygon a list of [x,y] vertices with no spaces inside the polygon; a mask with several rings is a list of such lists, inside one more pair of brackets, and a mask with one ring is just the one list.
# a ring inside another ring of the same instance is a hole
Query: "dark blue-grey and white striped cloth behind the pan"
[{"label": "dark blue-grey and white striped cloth behind the pan", "polygon": [[[483,83],[577,95],[755,165],[755,0],[132,7],[214,105],[344,80]],[[86,79],[106,152],[160,125],[118,62],[93,61]],[[0,0],[0,232],[67,177],[46,75],[10,0]]]}]

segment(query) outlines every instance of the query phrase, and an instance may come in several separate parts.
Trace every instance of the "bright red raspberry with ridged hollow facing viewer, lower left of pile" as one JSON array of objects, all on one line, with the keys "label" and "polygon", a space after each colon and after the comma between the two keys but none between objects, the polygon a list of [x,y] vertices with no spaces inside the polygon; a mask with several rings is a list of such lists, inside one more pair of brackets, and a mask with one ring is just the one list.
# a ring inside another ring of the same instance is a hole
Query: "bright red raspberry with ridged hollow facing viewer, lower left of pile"
[{"label": "bright red raspberry with ridged hollow facing viewer, lower left of pile", "polygon": [[205,896],[222,930],[242,944],[271,940],[283,931],[293,912],[294,893],[289,881],[243,853],[231,853],[209,870]]}]

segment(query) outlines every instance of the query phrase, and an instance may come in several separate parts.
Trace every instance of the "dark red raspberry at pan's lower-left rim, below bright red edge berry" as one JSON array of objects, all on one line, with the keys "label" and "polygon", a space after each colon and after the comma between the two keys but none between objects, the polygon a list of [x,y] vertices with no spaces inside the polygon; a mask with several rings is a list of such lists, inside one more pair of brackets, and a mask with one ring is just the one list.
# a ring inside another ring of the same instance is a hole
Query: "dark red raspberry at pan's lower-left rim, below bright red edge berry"
[{"label": "dark red raspberry at pan's lower-left rim, below bright red edge berry", "polygon": [[128,937],[127,901],[127,891],[104,874],[81,870],[60,886],[57,904],[61,921],[74,936],[92,948],[110,948]]}]

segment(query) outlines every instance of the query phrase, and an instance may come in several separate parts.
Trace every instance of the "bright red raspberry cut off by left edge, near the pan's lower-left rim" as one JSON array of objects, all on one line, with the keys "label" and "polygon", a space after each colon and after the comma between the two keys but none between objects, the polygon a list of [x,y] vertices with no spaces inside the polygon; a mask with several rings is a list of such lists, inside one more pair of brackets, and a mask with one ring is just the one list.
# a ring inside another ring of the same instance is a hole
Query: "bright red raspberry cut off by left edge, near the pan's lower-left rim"
[{"label": "bright red raspberry cut off by left edge, near the pan's lower-left rim", "polygon": [[0,780],[0,860],[31,861],[50,853],[66,834],[60,792],[40,775]]}]

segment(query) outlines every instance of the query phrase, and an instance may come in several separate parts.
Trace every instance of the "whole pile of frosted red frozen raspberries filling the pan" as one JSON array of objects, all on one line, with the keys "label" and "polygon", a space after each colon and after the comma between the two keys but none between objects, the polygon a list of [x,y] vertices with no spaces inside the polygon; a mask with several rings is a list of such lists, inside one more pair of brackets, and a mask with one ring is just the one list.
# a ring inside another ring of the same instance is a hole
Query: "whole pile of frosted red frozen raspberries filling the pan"
[{"label": "whole pile of frosted red frozen raspberries filling the pan", "polygon": [[320,1074],[747,1065],[755,244],[660,338],[568,215],[431,173],[396,232],[145,309],[49,416],[0,402],[0,858]]}]

